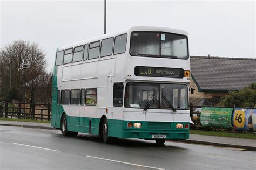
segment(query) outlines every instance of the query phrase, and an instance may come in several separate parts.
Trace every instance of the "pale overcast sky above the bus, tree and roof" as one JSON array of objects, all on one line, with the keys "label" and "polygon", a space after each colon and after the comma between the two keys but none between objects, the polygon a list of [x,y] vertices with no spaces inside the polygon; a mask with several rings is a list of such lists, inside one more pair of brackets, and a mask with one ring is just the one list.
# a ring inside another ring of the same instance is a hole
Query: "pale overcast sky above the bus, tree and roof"
[{"label": "pale overcast sky above the bus, tree and roof", "polygon": [[[2,1],[0,47],[38,42],[53,68],[56,48],[104,34],[104,0]],[[255,58],[255,1],[110,1],[107,32],[130,26],[186,30],[190,55]]]}]

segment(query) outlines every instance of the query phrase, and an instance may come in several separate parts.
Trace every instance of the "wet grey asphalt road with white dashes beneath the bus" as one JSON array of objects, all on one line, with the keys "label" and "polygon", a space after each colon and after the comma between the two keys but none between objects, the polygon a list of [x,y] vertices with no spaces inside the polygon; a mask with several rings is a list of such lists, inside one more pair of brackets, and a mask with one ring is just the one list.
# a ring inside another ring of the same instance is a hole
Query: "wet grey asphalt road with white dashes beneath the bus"
[{"label": "wet grey asphalt road with white dashes beneath the bus", "polygon": [[0,126],[0,169],[256,169],[256,152],[138,139],[104,144],[87,134]]}]

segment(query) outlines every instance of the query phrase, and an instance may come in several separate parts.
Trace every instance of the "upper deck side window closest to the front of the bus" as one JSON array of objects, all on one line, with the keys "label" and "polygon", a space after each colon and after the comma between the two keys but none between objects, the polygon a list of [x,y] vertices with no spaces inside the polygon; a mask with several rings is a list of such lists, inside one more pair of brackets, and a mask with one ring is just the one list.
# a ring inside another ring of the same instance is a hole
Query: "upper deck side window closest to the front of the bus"
[{"label": "upper deck side window closest to the front of the bus", "polygon": [[126,49],[127,34],[114,38],[114,54],[124,53]]}]

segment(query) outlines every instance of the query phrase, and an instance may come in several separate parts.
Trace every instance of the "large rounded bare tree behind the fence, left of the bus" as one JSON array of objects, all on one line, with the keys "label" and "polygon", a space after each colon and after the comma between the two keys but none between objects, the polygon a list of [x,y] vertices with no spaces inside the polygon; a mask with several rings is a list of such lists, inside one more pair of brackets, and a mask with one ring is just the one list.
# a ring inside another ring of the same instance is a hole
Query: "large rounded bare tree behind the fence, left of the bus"
[{"label": "large rounded bare tree behind the fence, left of the bus", "polygon": [[[2,97],[21,100],[24,96],[24,87],[28,91],[27,102],[41,101],[37,89],[48,84],[45,81],[46,60],[45,52],[35,42],[18,40],[6,45],[0,50],[0,80]],[[23,65],[28,65],[24,75]],[[17,93],[13,93],[14,91]],[[10,96],[12,94],[12,96]],[[1,98],[1,96],[0,96]]]}]

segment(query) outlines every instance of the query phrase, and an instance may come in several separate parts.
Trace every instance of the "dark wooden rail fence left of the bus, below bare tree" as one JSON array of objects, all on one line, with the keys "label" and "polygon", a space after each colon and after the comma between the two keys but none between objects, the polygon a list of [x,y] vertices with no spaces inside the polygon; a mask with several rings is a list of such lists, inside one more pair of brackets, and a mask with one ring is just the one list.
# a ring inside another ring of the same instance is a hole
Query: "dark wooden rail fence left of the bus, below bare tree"
[{"label": "dark wooden rail fence left of the bus, below bare tree", "polygon": [[51,120],[51,104],[0,102],[0,117]]}]

